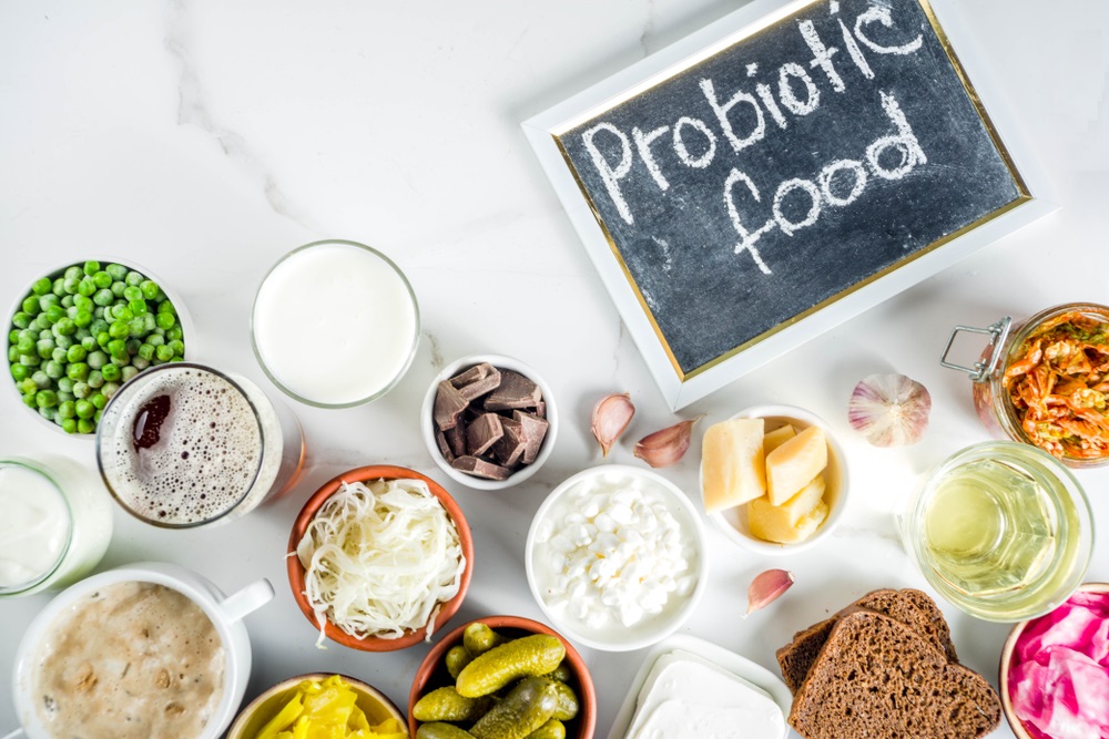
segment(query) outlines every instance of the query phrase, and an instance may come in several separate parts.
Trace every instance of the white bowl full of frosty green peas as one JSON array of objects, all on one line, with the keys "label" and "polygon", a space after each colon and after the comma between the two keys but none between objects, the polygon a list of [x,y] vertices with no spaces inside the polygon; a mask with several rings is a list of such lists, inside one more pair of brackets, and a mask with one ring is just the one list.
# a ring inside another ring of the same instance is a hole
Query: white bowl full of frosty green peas
[{"label": "white bowl full of frosty green peas", "polygon": [[8,316],[9,377],[20,402],[52,428],[88,439],[121,384],[147,367],[183,360],[192,343],[181,300],[125,260],[51,270]]}]

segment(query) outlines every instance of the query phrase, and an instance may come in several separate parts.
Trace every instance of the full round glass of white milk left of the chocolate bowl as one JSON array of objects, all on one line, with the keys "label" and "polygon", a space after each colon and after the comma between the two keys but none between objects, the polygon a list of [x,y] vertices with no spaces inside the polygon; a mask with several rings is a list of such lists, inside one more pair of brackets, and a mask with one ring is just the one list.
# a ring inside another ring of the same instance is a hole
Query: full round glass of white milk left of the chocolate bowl
[{"label": "full round glass of white milk left of the chocolate bowl", "polygon": [[380,398],[419,343],[419,307],[404,273],[363,244],[326,240],[286,254],[251,315],[254,353],[286,394],[318,408]]}]

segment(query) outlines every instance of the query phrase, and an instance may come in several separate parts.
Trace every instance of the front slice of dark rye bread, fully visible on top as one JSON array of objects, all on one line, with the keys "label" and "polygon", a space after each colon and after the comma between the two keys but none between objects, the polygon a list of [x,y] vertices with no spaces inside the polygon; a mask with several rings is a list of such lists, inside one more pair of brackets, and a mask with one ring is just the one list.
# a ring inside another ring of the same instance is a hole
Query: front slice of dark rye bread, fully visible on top
[{"label": "front slice of dark rye bread, fully visible on top", "polygon": [[805,739],[971,739],[1001,721],[1001,701],[977,673],[874,610],[840,618],[793,698]]}]

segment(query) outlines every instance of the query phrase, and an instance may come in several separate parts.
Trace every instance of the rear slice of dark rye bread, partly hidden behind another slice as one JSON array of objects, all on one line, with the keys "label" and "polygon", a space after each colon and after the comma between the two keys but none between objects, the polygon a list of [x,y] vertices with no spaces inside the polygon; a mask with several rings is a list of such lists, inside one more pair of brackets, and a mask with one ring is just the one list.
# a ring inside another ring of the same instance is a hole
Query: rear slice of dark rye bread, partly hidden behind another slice
[{"label": "rear slice of dark rye bread, partly hidden behind another slice", "polygon": [[845,613],[854,608],[869,608],[896,618],[929,639],[937,649],[947,655],[949,661],[958,661],[947,622],[935,601],[920,591],[883,588],[867,593],[831,618],[797,632],[793,635],[793,642],[777,650],[777,664],[782,668],[782,677],[785,678],[790,692],[796,692],[805,680],[808,668],[816,660],[816,655],[832,633],[832,627]]}]

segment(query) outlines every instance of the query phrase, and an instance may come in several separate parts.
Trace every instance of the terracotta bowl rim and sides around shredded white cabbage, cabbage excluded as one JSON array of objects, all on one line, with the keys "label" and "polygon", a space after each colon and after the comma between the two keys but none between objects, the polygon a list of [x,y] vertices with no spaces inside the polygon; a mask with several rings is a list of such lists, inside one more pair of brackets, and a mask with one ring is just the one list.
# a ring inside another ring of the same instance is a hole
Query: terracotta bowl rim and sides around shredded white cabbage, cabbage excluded
[{"label": "terracotta bowl rim and sides around shredded white cabbage, cabbage excluded", "polygon": [[[287,551],[289,556],[286,557],[286,568],[288,569],[288,584],[293,589],[293,597],[296,599],[296,604],[301,607],[301,613],[304,614],[305,618],[308,619],[314,628],[318,628],[316,615],[312,610],[312,605],[308,603],[308,598],[304,595],[304,566],[301,565],[301,560],[296,556],[296,545],[299,543],[301,538],[304,537],[304,533],[307,531],[308,524],[315,517],[321,506],[323,506],[324,501],[338,491],[342,483],[370,482],[374,480],[424,481],[427,483],[431,494],[438,497],[439,502],[442,503],[442,507],[446,509],[447,514],[450,516],[451,521],[455,523],[455,527],[458,530],[458,538],[462,546],[462,556],[466,557],[466,569],[462,573],[462,582],[458,588],[458,594],[449,601],[442,603],[438,615],[435,617],[435,628],[433,629],[433,633],[438,632],[442,628],[444,624],[446,624],[450,617],[458,612],[459,606],[462,605],[462,598],[466,597],[466,591],[470,586],[470,577],[474,574],[474,538],[470,535],[469,524],[466,523],[466,516],[462,515],[462,511],[458,506],[458,503],[455,502],[455,499],[452,499],[450,494],[444,490],[441,485],[439,485],[439,483],[426,475],[420,474],[419,472],[416,472],[415,470],[409,470],[408,468],[391,466],[387,464],[357,468],[333,478],[319,490],[313,493],[312,497],[308,499],[308,502],[304,504],[303,509],[301,509],[301,513],[297,514],[296,521],[293,523],[293,531],[288,537]],[[359,639],[350,636],[330,622],[327,622],[324,625],[324,634],[333,642],[337,642],[343,646],[350,647],[352,649],[360,649],[363,651],[395,651],[421,642],[427,635],[427,628],[420,627],[418,629],[406,632],[403,636],[395,639],[385,639],[373,636]]]}]

